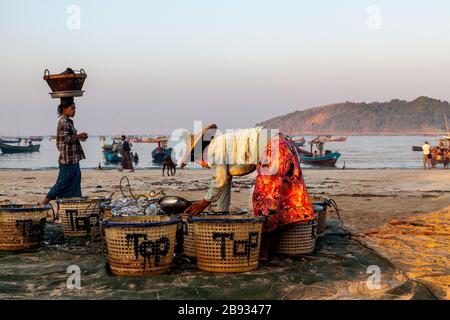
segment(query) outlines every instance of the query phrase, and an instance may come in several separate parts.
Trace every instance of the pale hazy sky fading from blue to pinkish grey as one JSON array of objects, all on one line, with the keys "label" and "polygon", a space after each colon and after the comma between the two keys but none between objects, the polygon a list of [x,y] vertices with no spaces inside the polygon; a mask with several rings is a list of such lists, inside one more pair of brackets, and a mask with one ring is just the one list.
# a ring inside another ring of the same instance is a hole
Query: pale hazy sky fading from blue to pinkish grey
[{"label": "pale hazy sky fading from blue to pinkish grey", "polygon": [[448,0],[0,0],[0,135],[55,134],[46,68],[86,71],[75,121],[90,134],[450,100],[449,14]]}]

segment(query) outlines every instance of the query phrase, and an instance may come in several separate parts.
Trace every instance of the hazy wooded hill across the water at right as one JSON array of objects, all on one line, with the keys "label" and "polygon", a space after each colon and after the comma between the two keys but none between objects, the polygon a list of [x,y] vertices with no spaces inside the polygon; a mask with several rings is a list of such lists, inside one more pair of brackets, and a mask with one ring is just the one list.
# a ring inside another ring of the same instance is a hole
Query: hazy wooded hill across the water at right
[{"label": "hazy wooded hill across the water at right", "polygon": [[287,134],[445,134],[450,104],[428,97],[413,101],[345,102],[295,111],[258,123]]}]

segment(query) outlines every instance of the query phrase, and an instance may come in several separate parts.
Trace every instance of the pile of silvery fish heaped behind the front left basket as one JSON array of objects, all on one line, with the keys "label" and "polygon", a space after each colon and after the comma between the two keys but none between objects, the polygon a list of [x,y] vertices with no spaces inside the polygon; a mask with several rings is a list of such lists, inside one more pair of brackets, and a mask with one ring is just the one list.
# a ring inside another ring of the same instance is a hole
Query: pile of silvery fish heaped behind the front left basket
[{"label": "pile of silvery fish heaped behind the front left basket", "polygon": [[151,216],[161,213],[161,207],[155,199],[120,197],[112,202],[111,214],[114,217]]}]

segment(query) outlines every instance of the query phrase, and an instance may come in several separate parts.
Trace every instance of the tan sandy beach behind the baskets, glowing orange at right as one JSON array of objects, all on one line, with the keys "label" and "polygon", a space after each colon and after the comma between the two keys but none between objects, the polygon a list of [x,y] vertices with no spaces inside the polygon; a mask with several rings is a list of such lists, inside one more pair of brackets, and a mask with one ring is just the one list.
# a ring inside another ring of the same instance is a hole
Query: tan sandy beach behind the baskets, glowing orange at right
[{"label": "tan sandy beach behind the baskets, glowing orange at right", "polygon": [[[57,173],[1,171],[0,200],[37,203],[53,185]],[[355,241],[375,249],[398,272],[412,283],[424,285],[434,297],[450,299],[450,171],[304,170],[303,173],[311,195],[337,202],[345,227]],[[208,188],[211,172],[181,170],[175,177],[163,178],[159,170],[134,173],[84,170],[84,195],[114,192],[114,197],[119,197],[123,175],[129,177],[135,194],[164,190],[166,195],[197,200]],[[253,180],[253,175],[234,180],[232,207],[251,211]],[[335,217],[330,214],[330,219]]]}]

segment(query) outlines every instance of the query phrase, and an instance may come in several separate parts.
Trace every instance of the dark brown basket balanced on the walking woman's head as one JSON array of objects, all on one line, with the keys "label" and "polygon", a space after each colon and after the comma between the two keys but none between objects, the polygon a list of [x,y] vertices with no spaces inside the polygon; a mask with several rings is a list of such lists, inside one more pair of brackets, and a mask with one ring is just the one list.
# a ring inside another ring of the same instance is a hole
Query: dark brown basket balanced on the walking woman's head
[{"label": "dark brown basket balanced on the walking woman's head", "polygon": [[[67,93],[68,95],[66,96],[82,95],[81,89],[86,78],[87,75],[83,69],[80,69],[79,73],[75,73],[72,69],[67,68],[66,71],[60,74],[50,74],[48,69],[44,71],[44,80],[47,81],[50,89],[52,89],[53,98],[61,98],[64,95],[63,93]],[[60,96],[58,96],[58,93]]]}]

